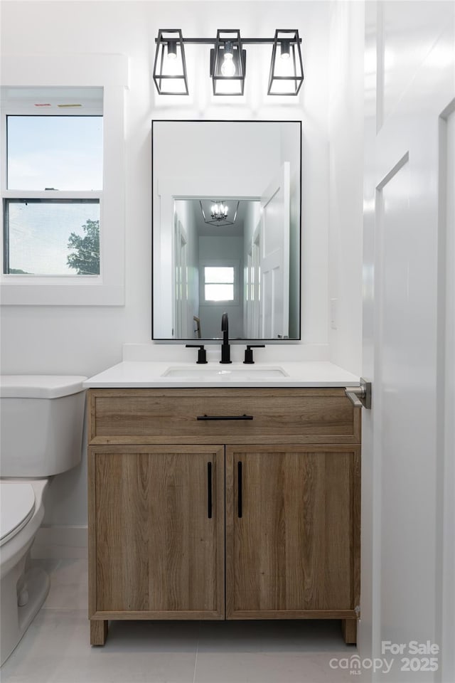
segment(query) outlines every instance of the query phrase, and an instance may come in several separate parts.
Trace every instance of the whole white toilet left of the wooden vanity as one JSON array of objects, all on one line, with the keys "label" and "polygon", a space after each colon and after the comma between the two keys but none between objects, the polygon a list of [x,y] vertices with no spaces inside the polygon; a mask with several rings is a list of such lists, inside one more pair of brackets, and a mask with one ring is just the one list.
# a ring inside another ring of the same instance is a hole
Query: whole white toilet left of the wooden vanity
[{"label": "whole white toilet left of the wooden vanity", "polygon": [[48,482],[81,459],[85,379],[0,376],[0,665],[48,594],[48,575],[31,566],[30,549]]}]

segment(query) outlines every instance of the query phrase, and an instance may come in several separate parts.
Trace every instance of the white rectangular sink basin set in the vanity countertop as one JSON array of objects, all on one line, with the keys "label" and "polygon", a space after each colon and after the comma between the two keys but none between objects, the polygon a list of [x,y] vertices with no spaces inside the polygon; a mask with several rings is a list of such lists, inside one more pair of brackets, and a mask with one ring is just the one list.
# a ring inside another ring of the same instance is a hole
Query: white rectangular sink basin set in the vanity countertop
[{"label": "white rectangular sink basin set in the vanity countertop", "polygon": [[181,379],[190,380],[258,380],[258,379],[268,379],[268,378],[279,378],[288,377],[287,372],[282,368],[274,367],[264,367],[264,366],[251,366],[245,365],[241,367],[230,368],[229,366],[172,366],[166,369],[161,375],[162,377],[176,377]]}]

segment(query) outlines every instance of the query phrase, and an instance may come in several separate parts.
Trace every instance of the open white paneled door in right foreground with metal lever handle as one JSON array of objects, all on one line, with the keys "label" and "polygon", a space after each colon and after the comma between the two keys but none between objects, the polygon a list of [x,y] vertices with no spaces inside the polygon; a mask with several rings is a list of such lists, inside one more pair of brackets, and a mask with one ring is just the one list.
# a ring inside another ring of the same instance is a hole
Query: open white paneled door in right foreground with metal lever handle
[{"label": "open white paneled door in right foreground with metal lever handle", "polygon": [[452,681],[454,4],[365,3],[365,56],[360,655]]}]

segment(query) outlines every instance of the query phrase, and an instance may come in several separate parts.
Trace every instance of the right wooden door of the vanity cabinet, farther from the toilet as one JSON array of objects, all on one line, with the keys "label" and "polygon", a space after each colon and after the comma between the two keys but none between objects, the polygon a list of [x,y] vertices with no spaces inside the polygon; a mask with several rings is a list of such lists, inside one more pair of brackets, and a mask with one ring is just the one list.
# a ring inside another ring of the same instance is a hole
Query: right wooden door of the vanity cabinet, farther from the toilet
[{"label": "right wooden door of the vanity cabinet, farther from the toilet", "polygon": [[226,448],[226,618],[355,618],[360,447]]}]

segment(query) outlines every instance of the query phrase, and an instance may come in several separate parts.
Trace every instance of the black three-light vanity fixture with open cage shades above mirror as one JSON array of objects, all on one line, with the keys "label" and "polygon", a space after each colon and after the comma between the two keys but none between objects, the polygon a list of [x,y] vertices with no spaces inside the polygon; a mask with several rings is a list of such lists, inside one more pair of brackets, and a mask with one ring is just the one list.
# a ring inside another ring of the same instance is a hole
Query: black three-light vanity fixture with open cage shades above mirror
[{"label": "black three-light vanity fixture with open cage shades above mirror", "polygon": [[277,29],[274,38],[241,38],[237,28],[218,29],[216,38],[183,38],[179,28],[160,28],[155,43],[153,78],[159,95],[188,95],[184,49],[188,44],[213,46],[210,48],[213,95],[243,95],[245,45],[273,46],[267,95],[298,95],[304,80],[301,38],[294,29]]}]

